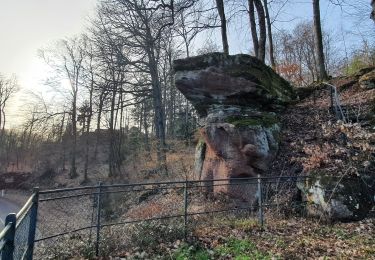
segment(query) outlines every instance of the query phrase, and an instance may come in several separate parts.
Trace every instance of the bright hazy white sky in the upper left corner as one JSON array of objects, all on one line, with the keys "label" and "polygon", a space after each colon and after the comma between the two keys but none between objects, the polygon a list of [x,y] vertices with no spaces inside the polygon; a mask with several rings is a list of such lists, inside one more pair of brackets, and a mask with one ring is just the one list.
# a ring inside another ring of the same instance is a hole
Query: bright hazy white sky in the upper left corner
[{"label": "bright hazy white sky in the upper left corner", "polygon": [[94,0],[0,0],[0,73],[20,85],[7,107],[7,127],[20,121],[28,91],[43,92],[47,66],[38,49],[80,34],[93,15]]}]

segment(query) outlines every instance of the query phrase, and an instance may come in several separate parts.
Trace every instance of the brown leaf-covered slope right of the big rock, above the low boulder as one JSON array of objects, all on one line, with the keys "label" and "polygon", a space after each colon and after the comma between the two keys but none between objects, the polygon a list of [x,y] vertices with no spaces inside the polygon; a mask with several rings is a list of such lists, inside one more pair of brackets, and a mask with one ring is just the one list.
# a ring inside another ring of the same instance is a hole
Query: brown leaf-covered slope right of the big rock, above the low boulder
[{"label": "brown leaf-covered slope right of the big rock, above the low boulder", "polygon": [[330,111],[330,89],[315,86],[281,114],[280,150],[270,175],[375,172],[375,89],[362,89],[352,77],[330,83],[338,89],[347,123],[337,122]]}]

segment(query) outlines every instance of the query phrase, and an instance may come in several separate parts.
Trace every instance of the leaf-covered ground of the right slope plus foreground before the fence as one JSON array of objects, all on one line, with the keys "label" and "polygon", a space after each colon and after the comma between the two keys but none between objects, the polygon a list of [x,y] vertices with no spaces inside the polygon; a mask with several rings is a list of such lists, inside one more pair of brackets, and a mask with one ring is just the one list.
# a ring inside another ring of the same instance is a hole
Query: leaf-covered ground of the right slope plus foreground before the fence
[{"label": "leaf-covered ground of the right slope plus foreground before the fence", "polygon": [[[337,175],[374,174],[375,89],[355,77],[331,80],[345,108],[346,124],[330,111],[330,89],[316,86],[282,115],[280,151],[270,175],[324,171]],[[352,171],[348,171],[352,169]],[[270,214],[261,229],[254,219],[205,223],[194,239],[162,243],[126,259],[375,259],[375,218],[351,223]]]}]

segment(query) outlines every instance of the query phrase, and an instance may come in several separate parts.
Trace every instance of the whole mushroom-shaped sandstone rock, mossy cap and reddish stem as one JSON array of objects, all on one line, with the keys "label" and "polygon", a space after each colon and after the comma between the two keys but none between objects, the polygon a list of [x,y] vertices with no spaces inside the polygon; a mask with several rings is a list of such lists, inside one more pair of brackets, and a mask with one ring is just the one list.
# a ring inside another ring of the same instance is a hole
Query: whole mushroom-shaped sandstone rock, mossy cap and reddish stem
[{"label": "whole mushroom-shaped sandstone rock, mossy cap and reddish stem", "polygon": [[[237,182],[266,173],[278,150],[275,112],[295,98],[292,87],[249,55],[212,53],[177,60],[174,69],[176,87],[192,102],[203,125],[196,174]],[[215,188],[223,189],[230,186]]]}]

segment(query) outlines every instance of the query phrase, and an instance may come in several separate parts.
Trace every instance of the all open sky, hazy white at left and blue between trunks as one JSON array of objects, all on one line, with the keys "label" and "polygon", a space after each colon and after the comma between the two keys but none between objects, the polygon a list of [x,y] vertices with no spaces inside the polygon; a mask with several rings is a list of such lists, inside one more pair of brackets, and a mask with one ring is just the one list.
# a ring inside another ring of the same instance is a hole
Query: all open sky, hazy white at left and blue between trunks
[{"label": "all open sky, hazy white at left and blue between trunks", "polygon": [[[29,91],[38,93],[46,90],[43,82],[50,72],[44,61],[38,58],[38,49],[84,32],[88,18],[94,15],[96,3],[97,0],[0,0],[0,73],[7,76],[16,74],[20,85],[19,93],[7,108],[8,127],[21,121],[21,114],[25,112],[21,104],[27,99]],[[296,23],[311,20],[311,17],[311,0],[293,0],[293,4],[285,6],[280,13],[274,31],[291,29]],[[363,14],[366,26],[370,23],[368,17],[369,14]],[[321,0],[321,18],[326,29],[342,31],[341,35],[345,35],[348,45],[359,42],[352,32],[358,31],[362,25],[349,19],[328,0]],[[239,14],[231,19],[229,45],[232,54],[248,53],[250,50],[250,33],[243,30],[248,28],[247,21],[247,17]],[[220,44],[218,32],[209,35]],[[207,34],[203,34],[198,38],[196,48],[203,44],[206,37]]]}]

